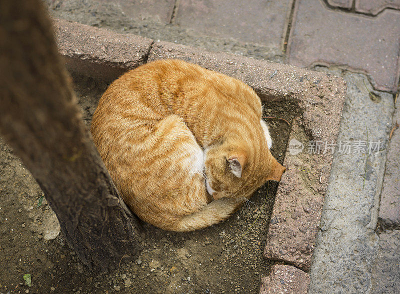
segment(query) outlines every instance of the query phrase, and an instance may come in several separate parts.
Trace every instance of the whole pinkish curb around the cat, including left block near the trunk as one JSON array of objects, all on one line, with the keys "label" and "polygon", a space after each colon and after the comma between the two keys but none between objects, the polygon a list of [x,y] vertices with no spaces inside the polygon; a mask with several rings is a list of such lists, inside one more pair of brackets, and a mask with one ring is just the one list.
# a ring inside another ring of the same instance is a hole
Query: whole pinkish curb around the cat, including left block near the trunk
[{"label": "whole pinkish curb around the cat, including left block near the trunk", "polygon": [[[69,70],[112,80],[147,61],[183,59],[242,80],[253,87],[263,101],[292,103],[297,116],[291,123],[289,140],[304,143],[336,141],[346,89],[341,78],[229,53],[153,42],[76,22],[53,21],[57,45]],[[287,171],[276,192],[264,256],[307,271],[315,246],[332,153],[302,152],[292,156],[288,150],[284,158]],[[296,270],[293,273],[303,272]]]}]

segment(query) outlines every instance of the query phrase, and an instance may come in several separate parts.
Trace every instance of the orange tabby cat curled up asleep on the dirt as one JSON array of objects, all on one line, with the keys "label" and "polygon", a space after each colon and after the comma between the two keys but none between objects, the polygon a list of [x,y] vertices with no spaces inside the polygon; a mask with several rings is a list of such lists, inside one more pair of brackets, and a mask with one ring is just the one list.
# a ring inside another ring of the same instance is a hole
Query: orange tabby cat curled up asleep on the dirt
[{"label": "orange tabby cat curled up asleep on the dirt", "polygon": [[131,70],[102,95],[93,141],[123,201],[170,231],[214,225],[285,168],[243,82],[180,60]]}]

